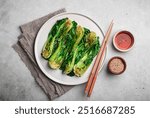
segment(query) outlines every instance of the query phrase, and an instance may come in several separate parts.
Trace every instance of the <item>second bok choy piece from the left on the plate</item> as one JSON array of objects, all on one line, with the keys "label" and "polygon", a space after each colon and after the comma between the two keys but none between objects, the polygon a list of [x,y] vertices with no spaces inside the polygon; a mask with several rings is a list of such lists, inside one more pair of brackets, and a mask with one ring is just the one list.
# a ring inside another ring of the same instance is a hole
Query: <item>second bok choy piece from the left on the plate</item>
[{"label": "second bok choy piece from the left on the plate", "polygon": [[67,20],[64,26],[64,31],[61,35],[61,40],[58,42],[58,47],[56,51],[52,54],[52,56],[49,58],[49,66],[53,69],[58,69],[61,67],[65,56],[71,50],[71,45],[73,43],[72,37],[74,34],[72,32],[75,32],[77,23],[72,22],[71,20]]}]

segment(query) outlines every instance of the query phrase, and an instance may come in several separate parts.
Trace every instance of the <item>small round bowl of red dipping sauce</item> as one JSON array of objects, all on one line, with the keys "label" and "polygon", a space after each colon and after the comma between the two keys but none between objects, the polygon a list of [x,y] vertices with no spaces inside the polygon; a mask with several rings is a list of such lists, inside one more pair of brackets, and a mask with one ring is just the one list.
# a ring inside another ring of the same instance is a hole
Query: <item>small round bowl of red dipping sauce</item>
[{"label": "small round bowl of red dipping sauce", "polygon": [[120,31],[114,36],[113,44],[117,50],[126,52],[133,46],[134,37],[129,31]]}]

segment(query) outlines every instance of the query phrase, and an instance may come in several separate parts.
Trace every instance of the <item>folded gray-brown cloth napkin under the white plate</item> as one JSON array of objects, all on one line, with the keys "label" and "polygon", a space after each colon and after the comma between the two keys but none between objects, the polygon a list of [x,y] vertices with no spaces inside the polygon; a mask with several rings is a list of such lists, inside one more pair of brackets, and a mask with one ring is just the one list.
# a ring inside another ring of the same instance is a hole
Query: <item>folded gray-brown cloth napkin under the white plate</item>
[{"label": "folded gray-brown cloth napkin under the white plate", "polygon": [[20,26],[22,34],[18,37],[18,42],[13,45],[14,50],[18,53],[22,61],[30,70],[36,82],[44,90],[50,100],[57,98],[73,86],[58,84],[47,78],[38,67],[34,57],[34,41],[41,26],[53,16],[66,12],[65,8],[50,13],[42,18]]}]

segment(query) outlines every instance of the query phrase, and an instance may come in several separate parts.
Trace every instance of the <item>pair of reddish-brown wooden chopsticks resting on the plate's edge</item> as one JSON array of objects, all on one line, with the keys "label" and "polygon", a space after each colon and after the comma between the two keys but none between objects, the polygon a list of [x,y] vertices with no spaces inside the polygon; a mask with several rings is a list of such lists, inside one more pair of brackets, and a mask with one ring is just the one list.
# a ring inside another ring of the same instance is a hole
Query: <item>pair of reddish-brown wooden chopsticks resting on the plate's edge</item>
[{"label": "pair of reddish-brown wooden chopsticks resting on the plate's edge", "polygon": [[103,40],[101,48],[100,48],[100,51],[97,55],[97,58],[95,60],[95,63],[94,63],[93,68],[91,70],[90,76],[88,78],[88,82],[87,82],[86,87],[85,87],[85,93],[87,94],[88,97],[90,97],[92,94],[92,91],[93,91],[93,88],[94,88],[94,85],[95,85],[95,82],[97,79],[97,75],[98,75],[99,69],[100,69],[101,64],[102,64],[104,52],[106,50],[106,47],[107,47],[107,44],[109,41],[109,36],[110,36],[111,31],[112,31],[112,27],[113,27],[113,20],[110,23],[109,28],[106,32],[106,35],[104,37],[104,40]]}]

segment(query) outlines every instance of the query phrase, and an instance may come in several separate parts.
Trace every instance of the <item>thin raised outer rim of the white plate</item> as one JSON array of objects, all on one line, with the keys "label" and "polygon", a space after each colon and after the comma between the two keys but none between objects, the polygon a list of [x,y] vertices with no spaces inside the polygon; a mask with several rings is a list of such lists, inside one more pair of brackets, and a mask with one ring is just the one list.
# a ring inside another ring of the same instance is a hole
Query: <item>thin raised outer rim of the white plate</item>
[{"label": "thin raised outer rim of the white plate", "polygon": [[[99,29],[100,32],[102,33],[102,37],[104,38],[103,30],[102,30],[101,27],[100,27],[94,20],[92,20],[90,17],[88,17],[88,16],[86,16],[86,15],[83,15],[83,14],[80,14],[80,13],[65,12],[65,13],[57,14],[57,15],[55,15],[55,16],[49,18],[46,22],[44,22],[44,24],[40,27],[40,29],[39,29],[39,31],[38,31],[36,37],[35,37],[35,41],[34,41],[34,51],[33,51],[33,52],[34,52],[34,57],[35,57],[35,60],[36,60],[36,63],[37,63],[37,65],[38,65],[39,69],[41,70],[41,72],[42,72],[48,79],[50,79],[51,81],[56,82],[56,83],[58,83],[58,84],[62,84],[62,85],[80,85],[80,84],[86,83],[87,81],[83,81],[83,82],[75,83],[75,84],[72,84],[72,83],[69,84],[69,83],[66,83],[66,82],[61,83],[59,80],[57,81],[56,79],[55,79],[55,80],[52,79],[52,78],[55,78],[55,77],[53,77],[52,75],[47,75],[46,73],[44,73],[44,71],[42,70],[42,67],[40,66],[40,64],[39,64],[39,62],[38,62],[38,60],[37,60],[38,55],[36,54],[36,48],[37,48],[37,47],[36,47],[36,44],[37,44],[37,38],[38,38],[38,36],[40,35],[40,33],[42,32],[42,28],[45,26],[45,24],[46,24],[47,22],[49,22],[50,19],[55,18],[55,17],[58,17],[58,16],[61,16],[61,15],[66,15],[66,14],[79,15],[79,16],[83,16],[83,17],[89,19],[90,21],[92,21],[92,22],[98,27],[98,29]],[[106,48],[106,51],[105,51],[105,56],[104,56],[104,61],[103,61],[103,63],[102,63],[102,67],[100,68],[99,72],[102,70],[102,68],[103,68],[103,66],[104,66],[104,62],[105,62],[105,60],[106,60],[106,55],[107,55],[107,48]]]}]

